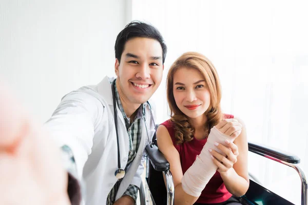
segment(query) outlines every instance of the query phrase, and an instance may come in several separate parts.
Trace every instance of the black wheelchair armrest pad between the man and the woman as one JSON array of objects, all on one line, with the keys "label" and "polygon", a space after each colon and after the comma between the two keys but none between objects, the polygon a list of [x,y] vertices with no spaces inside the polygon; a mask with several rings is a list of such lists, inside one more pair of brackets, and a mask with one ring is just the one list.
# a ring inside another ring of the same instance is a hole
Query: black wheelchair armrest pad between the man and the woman
[{"label": "black wheelchair armrest pad between the man and the woman", "polygon": [[158,150],[156,145],[151,148],[150,145],[145,147],[145,152],[147,153],[149,160],[156,171],[164,172],[170,169],[170,164],[164,157],[163,153]]}]

